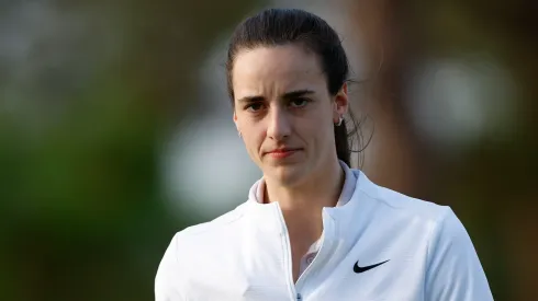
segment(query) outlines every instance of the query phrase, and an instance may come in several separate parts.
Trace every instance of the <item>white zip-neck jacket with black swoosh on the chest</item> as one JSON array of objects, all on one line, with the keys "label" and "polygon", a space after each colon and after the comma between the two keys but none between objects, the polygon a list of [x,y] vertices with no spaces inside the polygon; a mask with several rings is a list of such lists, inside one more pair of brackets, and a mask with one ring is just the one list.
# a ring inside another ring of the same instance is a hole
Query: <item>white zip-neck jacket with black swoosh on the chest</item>
[{"label": "white zip-neck jacket with black swoosh on the chest", "polygon": [[322,246],[296,283],[279,204],[250,197],[173,236],[155,279],[156,301],[493,300],[469,234],[449,207],[351,171],[351,199],[323,209]]}]

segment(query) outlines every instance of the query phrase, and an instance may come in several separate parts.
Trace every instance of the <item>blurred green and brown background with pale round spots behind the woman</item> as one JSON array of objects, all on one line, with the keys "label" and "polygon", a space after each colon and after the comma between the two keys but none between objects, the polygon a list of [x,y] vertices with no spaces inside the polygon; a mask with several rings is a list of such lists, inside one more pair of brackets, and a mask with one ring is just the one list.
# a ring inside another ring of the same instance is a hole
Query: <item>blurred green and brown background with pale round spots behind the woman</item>
[{"label": "blurred green and brown background with pale round spots behind the woman", "polygon": [[0,300],[153,300],[173,233],[246,200],[224,59],[267,5],[326,19],[373,79],[367,175],[451,206],[495,300],[538,300],[536,3],[1,1]]}]

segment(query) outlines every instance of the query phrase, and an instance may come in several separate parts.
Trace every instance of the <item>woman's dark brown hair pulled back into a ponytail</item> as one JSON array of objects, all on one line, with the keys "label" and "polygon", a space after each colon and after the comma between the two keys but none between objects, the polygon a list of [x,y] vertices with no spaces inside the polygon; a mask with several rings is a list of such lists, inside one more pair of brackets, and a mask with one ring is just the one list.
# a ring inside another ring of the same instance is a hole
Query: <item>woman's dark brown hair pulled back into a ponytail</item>
[{"label": "woman's dark brown hair pulled back into a ponytail", "polygon": [[[320,57],[327,79],[328,92],[330,95],[338,93],[349,76],[349,62],[338,34],[327,22],[313,13],[298,9],[268,9],[242,22],[232,35],[226,61],[232,105],[234,105],[232,70],[239,50],[292,43],[306,47]],[[336,153],[348,166],[351,165],[348,138],[358,132],[355,118],[351,112],[349,113],[355,126],[351,132],[347,131],[345,120],[340,126],[334,126]]]}]

